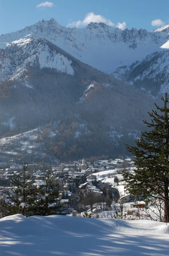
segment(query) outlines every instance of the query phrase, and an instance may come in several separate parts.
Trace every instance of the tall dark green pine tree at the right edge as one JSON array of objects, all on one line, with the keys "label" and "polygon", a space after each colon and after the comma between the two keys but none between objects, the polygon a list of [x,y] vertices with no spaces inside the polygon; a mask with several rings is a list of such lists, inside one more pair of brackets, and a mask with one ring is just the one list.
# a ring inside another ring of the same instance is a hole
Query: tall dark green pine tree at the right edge
[{"label": "tall dark green pine tree at the right edge", "polygon": [[169,222],[169,98],[162,97],[163,107],[155,104],[157,111],[149,113],[151,122],[144,121],[150,131],[141,132],[136,146],[127,145],[128,151],[135,155],[136,169],[122,172],[130,193],[150,200],[163,202],[164,218]]}]

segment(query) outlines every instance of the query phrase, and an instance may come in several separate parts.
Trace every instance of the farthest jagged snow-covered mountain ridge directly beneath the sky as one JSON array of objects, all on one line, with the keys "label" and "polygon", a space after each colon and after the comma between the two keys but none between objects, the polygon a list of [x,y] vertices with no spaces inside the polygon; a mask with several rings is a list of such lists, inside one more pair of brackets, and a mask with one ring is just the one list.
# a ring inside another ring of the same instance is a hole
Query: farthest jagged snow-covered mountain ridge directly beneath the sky
[{"label": "farthest jagged snow-covered mountain ridge directly beneath the sky", "polygon": [[166,26],[147,32],[146,29],[121,30],[104,23],[90,23],[82,29],[70,29],[51,19],[1,35],[0,47],[45,38],[80,61],[106,73],[113,73],[120,66],[131,65],[155,50],[161,50],[160,47],[165,48],[168,32]]}]

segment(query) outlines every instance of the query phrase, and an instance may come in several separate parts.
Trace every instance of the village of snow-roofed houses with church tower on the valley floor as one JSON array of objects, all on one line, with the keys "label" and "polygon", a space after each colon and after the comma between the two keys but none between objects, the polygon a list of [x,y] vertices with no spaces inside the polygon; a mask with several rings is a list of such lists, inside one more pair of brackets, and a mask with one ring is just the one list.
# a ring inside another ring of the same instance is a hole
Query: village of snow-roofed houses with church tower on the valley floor
[{"label": "village of snow-roofed houses with church tower on the valley floor", "polygon": [[[58,205],[56,213],[70,214],[76,211],[79,216],[90,214],[100,218],[112,216],[115,207],[127,204],[131,207],[134,196],[127,192],[126,184],[122,181],[121,170],[132,172],[135,169],[133,159],[121,157],[118,159],[98,160],[93,163],[84,158],[71,163],[54,163],[44,169],[38,164],[28,164],[26,174],[34,180],[33,186],[43,186],[45,173],[50,171],[54,177],[56,188],[59,189]],[[10,183],[12,177],[20,175],[23,166],[8,166],[0,169],[0,200],[12,204],[10,193],[14,187]],[[3,215],[1,214],[1,218]]]}]

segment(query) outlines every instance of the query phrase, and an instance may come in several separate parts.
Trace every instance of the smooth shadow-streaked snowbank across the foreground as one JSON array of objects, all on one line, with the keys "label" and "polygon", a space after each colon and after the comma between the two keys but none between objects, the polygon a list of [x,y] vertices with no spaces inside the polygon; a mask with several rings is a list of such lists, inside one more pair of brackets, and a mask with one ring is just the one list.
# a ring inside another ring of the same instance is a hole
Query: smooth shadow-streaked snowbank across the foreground
[{"label": "smooth shadow-streaked snowbank across the foreground", "polygon": [[0,220],[0,256],[168,256],[169,226],[154,221],[13,215]]}]

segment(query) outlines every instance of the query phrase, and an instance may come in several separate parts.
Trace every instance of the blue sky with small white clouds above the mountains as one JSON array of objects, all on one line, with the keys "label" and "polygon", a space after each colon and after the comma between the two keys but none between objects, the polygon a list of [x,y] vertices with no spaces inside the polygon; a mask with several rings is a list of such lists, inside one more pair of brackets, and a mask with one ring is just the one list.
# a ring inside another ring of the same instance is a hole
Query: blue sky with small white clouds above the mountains
[{"label": "blue sky with small white clouds above the mountains", "polygon": [[104,22],[152,30],[169,23],[168,0],[0,0],[0,34],[54,18],[62,26]]}]

